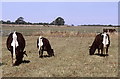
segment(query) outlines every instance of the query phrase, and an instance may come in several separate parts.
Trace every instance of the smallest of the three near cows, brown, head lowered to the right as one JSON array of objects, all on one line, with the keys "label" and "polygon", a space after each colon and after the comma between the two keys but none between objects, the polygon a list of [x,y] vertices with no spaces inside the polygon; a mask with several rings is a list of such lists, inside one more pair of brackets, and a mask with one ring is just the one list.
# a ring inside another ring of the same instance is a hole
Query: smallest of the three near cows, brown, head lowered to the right
[{"label": "smallest of the three near cows, brown, head lowered to the right", "polygon": [[49,57],[50,56],[54,56],[54,51],[53,49],[51,48],[51,45],[48,41],[48,39],[40,36],[38,39],[37,39],[37,48],[38,48],[38,51],[39,51],[39,57],[43,57],[43,51],[47,51]]}]

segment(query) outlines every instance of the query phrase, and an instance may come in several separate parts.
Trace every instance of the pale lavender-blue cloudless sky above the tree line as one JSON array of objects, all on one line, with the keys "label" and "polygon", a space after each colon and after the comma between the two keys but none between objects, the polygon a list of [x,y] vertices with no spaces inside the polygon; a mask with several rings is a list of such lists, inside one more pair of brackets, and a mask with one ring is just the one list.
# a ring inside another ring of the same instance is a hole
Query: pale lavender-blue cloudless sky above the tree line
[{"label": "pale lavender-blue cloudless sky above the tree line", "polygon": [[118,24],[118,2],[2,2],[2,20],[52,22],[62,17],[65,24]]}]

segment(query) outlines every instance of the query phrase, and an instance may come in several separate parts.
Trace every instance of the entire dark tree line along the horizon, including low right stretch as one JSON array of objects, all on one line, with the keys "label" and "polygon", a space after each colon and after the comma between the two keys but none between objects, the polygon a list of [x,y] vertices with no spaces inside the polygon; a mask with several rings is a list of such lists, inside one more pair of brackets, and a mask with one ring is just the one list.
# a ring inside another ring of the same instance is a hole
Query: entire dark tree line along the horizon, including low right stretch
[{"label": "entire dark tree line along the horizon, including low right stretch", "polygon": [[[39,23],[31,23],[31,22],[26,22],[24,20],[23,17],[19,17],[15,20],[15,22],[12,22],[10,20],[7,20],[7,21],[3,21],[1,20],[0,23],[2,24],[26,24],[26,25],[65,25],[65,20],[62,18],[62,17],[57,17],[54,21],[52,21],[51,23],[42,23],[42,22],[39,22]],[[74,26],[73,24],[71,24],[70,26]],[[101,25],[101,24],[84,24],[84,25],[78,25],[78,26],[105,26],[105,27],[113,27],[113,25],[109,24],[109,25]],[[115,27],[115,26],[114,26]],[[116,26],[118,27],[118,26]]]}]

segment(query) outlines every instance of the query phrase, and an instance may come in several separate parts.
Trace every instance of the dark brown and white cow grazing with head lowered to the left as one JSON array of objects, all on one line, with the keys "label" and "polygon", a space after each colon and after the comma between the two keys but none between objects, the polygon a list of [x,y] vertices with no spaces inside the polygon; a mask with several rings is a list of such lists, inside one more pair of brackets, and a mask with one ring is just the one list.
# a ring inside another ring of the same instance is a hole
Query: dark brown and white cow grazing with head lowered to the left
[{"label": "dark brown and white cow grazing with head lowered to the left", "polygon": [[98,49],[99,55],[100,55],[100,50],[101,50],[101,55],[105,55],[105,49],[106,49],[106,56],[108,56],[109,45],[110,45],[109,35],[106,32],[100,33],[95,37],[92,46],[90,46],[89,54],[93,55],[96,49]]}]

